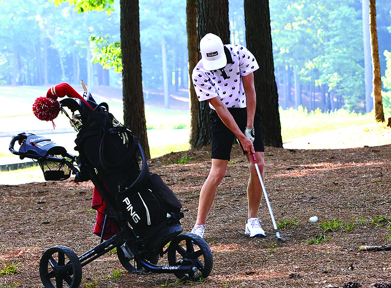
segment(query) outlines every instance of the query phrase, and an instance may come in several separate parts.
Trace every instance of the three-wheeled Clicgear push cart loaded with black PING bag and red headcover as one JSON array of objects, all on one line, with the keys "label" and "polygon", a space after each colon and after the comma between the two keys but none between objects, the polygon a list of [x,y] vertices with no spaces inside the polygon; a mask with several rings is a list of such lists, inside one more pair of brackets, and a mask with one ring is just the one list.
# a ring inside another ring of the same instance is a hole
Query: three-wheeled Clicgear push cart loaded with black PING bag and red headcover
[{"label": "three-wheeled Clicgear push cart loaded with black PING bag and red headcover", "polygon": [[[64,96],[69,98],[57,101]],[[113,117],[106,103],[98,105],[88,91],[81,96],[62,83],[49,89],[46,97],[37,98],[33,111],[46,121],[53,121],[62,111],[78,132],[75,150],[79,155],[31,133],[14,136],[9,150],[21,159],[36,160],[45,180],[65,180],[71,174],[75,182],[91,180],[93,201],[99,198],[103,203],[103,216],[97,217],[95,225],[100,232],[98,245],[81,256],[65,246],[43,253],[39,270],[45,288],[79,287],[82,267],[114,248],[131,273],[174,273],[192,282],[209,276],[213,259],[208,244],[195,234],[182,233],[181,203],[163,180],[149,171],[137,138]],[[157,265],[165,254],[168,264]]]}]

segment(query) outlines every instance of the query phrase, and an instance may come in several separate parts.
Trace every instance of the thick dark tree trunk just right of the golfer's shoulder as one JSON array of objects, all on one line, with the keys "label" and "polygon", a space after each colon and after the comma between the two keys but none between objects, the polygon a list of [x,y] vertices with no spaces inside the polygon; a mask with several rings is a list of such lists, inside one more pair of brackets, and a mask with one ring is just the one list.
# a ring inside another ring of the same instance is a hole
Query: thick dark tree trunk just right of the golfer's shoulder
[{"label": "thick dark tree trunk just right of the golfer's shoulder", "polygon": [[273,47],[268,0],[244,0],[247,48],[260,68],[254,72],[257,105],[262,113],[262,135],[266,146],[282,147],[278,91],[274,75]]}]

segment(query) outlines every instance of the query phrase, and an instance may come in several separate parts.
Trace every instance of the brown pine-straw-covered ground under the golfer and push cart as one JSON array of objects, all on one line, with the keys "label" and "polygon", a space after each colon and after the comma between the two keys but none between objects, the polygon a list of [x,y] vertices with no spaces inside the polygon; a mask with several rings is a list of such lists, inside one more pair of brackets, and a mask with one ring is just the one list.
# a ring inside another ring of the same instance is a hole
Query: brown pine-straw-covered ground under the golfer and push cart
[{"label": "brown pine-straw-covered ground under the golfer and push cart", "polygon": [[[114,271],[123,268],[116,255],[108,253],[83,267],[80,287],[391,287],[391,251],[359,249],[391,242],[390,129],[357,133],[363,133],[357,138],[375,137],[379,144],[365,146],[367,142],[356,139],[350,144],[356,148],[326,149],[325,140],[322,149],[266,147],[266,191],[276,221],[287,226],[280,228],[286,243],[277,243],[264,199],[260,218],[267,237],[249,239],[244,234],[247,164],[235,145],[204,235],[214,260],[205,282],[181,284],[173,274],[128,272],[113,279]],[[335,143],[340,136],[328,139]],[[173,164],[182,156],[189,162]],[[190,232],[211,166],[210,148],[154,158],[149,165],[180,199],[182,227]],[[15,274],[0,274],[0,288],[43,287],[39,261],[51,246],[68,246],[80,256],[98,244],[92,234],[92,190],[91,183],[70,179],[0,186],[0,269],[12,262],[18,265]],[[314,215],[319,221],[309,222]],[[380,215],[383,225],[373,223]],[[326,230],[327,222],[341,227]],[[319,243],[311,244],[316,239]]]}]

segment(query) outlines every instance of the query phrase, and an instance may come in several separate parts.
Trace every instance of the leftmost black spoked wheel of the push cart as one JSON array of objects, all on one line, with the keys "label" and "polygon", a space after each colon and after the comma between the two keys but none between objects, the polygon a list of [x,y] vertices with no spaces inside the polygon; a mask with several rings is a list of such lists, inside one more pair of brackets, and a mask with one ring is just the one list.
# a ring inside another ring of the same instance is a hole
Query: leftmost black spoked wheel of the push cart
[{"label": "leftmost black spoked wheel of the push cart", "polygon": [[82,282],[82,265],[73,250],[54,246],[41,257],[40,276],[45,288],[78,288]]}]

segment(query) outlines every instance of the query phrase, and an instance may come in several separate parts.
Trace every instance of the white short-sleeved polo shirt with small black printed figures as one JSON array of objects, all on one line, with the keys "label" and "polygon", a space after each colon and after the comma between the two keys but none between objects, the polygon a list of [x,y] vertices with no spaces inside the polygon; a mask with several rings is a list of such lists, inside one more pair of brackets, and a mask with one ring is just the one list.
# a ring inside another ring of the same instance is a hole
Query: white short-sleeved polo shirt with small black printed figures
[{"label": "white short-sleeved polo shirt with small black printed figures", "polygon": [[[227,44],[225,53],[227,65],[224,79],[221,70],[205,70],[202,59],[193,69],[192,79],[198,101],[219,97],[227,108],[245,108],[246,94],[241,76],[246,76],[259,68],[254,55],[242,45]],[[229,58],[231,55],[231,59]],[[213,106],[209,103],[209,106]]]}]

